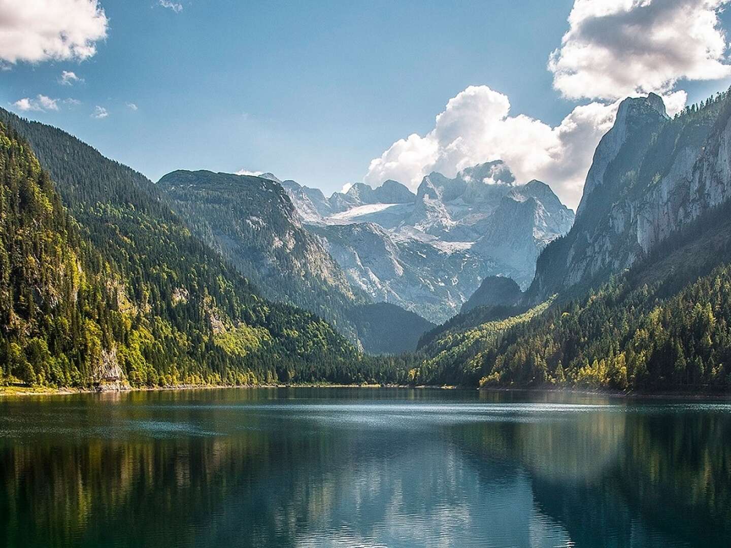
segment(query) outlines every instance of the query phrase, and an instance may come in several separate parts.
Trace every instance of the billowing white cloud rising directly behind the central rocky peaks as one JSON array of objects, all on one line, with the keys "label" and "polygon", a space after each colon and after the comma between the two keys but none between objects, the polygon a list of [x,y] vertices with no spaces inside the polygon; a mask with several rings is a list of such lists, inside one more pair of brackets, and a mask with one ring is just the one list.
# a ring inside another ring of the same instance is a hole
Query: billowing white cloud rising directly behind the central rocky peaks
[{"label": "billowing white cloud rising directly behind the central rocky peaks", "polygon": [[575,207],[581,197],[594,149],[614,123],[619,102],[575,107],[558,126],[526,115],[510,115],[510,100],[487,85],[471,85],[447,102],[424,137],[409,135],[371,161],[364,180],[378,185],[399,180],[415,189],[424,175],[456,172],[501,159],[518,183],[550,184]]}]

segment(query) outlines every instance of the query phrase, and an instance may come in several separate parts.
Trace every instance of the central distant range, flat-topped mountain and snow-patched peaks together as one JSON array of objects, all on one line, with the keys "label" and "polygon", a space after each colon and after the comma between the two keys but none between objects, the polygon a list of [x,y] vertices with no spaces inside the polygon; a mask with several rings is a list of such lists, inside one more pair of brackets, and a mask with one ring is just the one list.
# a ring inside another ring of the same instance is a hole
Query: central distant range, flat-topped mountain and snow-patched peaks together
[{"label": "central distant range, flat-topped mountain and snow-patched peaks together", "polygon": [[[452,179],[432,173],[417,194],[387,180],[327,198],[271,173],[183,170],[157,186],[265,297],[319,314],[366,351],[385,347],[364,344],[356,311],[366,317],[369,305],[386,302],[397,306],[382,313],[411,311],[431,329],[486,277],[506,275],[526,286],[540,250],[573,220],[547,185],[516,184],[501,161]],[[413,323],[410,317],[401,319]],[[398,350],[414,349],[420,335]]]}]

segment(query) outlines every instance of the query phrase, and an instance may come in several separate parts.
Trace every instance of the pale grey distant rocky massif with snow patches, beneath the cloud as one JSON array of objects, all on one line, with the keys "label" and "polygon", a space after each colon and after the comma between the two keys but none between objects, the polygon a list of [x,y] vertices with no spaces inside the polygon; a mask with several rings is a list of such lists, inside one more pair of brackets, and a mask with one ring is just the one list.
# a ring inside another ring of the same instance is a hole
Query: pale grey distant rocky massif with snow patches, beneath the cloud
[{"label": "pale grey distant rocky massif with snow patches, beneath the cloud", "polygon": [[499,160],[454,178],[433,172],[416,194],[394,180],[330,198],[281,184],[354,287],[436,322],[458,313],[486,276],[526,287],[542,248],[574,218],[548,185],[518,184]]}]

